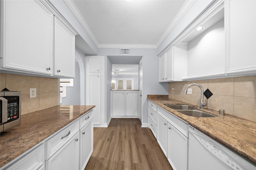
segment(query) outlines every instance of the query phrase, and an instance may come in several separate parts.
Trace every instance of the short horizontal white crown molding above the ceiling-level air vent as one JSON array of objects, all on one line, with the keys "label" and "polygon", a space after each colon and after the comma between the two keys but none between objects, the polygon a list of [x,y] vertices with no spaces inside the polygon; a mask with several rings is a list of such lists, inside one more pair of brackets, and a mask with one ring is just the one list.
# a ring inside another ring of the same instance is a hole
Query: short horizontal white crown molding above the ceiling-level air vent
[{"label": "short horizontal white crown molding above the ceiling-level air vent", "polygon": [[148,44],[99,44],[98,48],[157,49],[156,45]]}]

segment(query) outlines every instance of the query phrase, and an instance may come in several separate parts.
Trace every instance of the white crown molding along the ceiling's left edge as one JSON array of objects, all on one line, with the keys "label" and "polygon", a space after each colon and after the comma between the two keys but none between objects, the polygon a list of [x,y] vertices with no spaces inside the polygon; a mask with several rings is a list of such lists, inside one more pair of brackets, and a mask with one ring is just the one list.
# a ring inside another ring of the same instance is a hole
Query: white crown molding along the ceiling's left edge
[{"label": "white crown molding along the ceiling's left edge", "polygon": [[89,25],[84,20],[82,14],[79,12],[79,10],[76,8],[76,5],[72,0],[64,0],[68,8],[71,10],[71,12],[74,14],[74,16],[78,19],[78,21],[81,23],[82,27],[85,29],[85,31],[88,33],[94,44],[98,47],[99,43],[94,34],[92,33],[92,30],[90,29]]}]

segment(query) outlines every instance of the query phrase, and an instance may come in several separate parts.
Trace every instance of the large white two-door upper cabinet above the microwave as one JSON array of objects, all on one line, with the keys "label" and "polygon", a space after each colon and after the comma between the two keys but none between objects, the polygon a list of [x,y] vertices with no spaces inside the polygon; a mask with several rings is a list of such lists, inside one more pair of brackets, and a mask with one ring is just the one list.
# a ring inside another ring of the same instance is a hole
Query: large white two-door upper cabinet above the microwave
[{"label": "large white two-door upper cabinet above the microwave", "polygon": [[48,1],[1,1],[1,70],[74,77],[76,34]]}]

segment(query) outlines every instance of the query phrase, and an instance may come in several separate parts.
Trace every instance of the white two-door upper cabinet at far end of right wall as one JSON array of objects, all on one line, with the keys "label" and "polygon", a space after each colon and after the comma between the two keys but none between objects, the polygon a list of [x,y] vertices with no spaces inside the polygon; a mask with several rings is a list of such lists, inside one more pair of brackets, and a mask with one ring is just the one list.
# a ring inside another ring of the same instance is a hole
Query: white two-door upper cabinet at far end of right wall
[{"label": "white two-door upper cabinet at far end of right wall", "polygon": [[187,72],[187,45],[172,46],[159,59],[159,82],[181,81]]}]

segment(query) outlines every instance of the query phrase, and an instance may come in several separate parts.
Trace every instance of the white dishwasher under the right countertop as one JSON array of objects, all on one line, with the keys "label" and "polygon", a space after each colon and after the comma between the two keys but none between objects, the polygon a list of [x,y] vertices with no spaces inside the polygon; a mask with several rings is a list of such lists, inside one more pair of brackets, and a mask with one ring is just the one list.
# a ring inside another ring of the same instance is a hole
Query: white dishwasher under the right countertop
[{"label": "white dishwasher under the right countertop", "polygon": [[188,126],[189,170],[256,170],[256,164],[191,125]]}]

